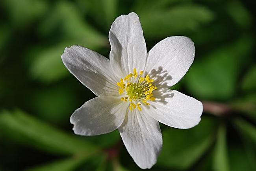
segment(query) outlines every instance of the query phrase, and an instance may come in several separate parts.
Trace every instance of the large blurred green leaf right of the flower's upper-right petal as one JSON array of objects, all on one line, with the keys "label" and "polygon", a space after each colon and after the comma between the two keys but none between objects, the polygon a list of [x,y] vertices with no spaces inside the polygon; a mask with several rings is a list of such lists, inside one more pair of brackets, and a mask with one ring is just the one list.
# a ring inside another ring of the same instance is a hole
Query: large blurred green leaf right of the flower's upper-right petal
[{"label": "large blurred green leaf right of the flower's upper-right petal", "polygon": [[234,43],[213,50],[201,59],[196,59],[185,75],[185,86],[198,99],[224,100],[234,96],[239,72],[253,41],[243,36]]}]

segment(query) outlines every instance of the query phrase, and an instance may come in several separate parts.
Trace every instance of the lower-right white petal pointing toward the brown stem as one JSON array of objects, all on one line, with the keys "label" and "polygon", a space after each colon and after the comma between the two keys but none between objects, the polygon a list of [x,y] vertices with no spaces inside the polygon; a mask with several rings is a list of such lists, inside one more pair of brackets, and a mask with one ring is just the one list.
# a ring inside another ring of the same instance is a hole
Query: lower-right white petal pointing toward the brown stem
[{"label": "lower-right white petal pointing toward the brown stem", "polygon": [[155,120],[174,128],[188,129],[201,120],[203,105],[193,97],[175,90],[157,92],[155,101],[142,106]]}]

